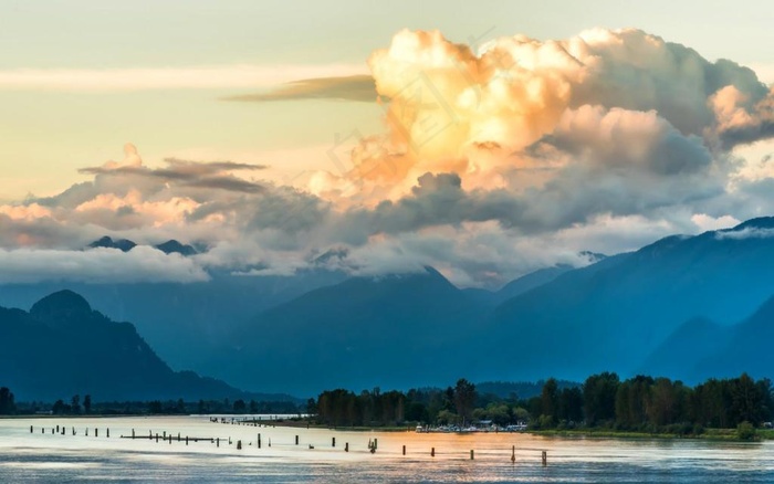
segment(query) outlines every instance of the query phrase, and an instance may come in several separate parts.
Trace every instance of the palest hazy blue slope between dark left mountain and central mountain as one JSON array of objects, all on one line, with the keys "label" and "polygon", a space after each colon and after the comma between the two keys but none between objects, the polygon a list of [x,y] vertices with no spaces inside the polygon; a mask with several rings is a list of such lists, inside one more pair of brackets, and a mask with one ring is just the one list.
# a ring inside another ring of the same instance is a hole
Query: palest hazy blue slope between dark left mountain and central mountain
[{"label": "palest hazy blue slope between dark left mountain and central mountain", "polygon": [[210,362],[222,357],[226,335],[234,327],[269,307],[345,278],[327,271],[300,272],[293,277],[213,271],[209,281],[196,283],[6,284],[0,285],[0,306],[30,307],[46,294],[69,288],[101,313],[134,322],[172,368],[211,373]]}]

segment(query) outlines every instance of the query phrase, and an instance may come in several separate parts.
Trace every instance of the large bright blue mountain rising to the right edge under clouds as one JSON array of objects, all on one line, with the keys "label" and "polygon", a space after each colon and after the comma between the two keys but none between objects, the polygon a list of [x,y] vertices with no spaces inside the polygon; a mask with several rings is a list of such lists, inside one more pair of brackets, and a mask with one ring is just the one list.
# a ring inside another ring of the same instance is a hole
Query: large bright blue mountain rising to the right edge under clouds
[{"label": "large bright blue mountain rising to the right edge under clouds", "polygon": [[686,320],[729,325],[774,294],[772,228],[774,219],[763,218],[666,238],[512,297],[481,328],[509,350],[479,369],[511,380],[582,380],[610,369],[632,375]]}]

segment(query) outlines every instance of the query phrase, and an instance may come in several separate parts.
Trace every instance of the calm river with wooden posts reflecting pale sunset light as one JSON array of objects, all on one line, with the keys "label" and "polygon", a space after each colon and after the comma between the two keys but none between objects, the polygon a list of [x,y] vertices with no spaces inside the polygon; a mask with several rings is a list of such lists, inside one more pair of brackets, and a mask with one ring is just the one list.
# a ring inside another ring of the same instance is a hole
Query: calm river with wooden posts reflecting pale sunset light
[{"label": "calm river with wooden posts reflecting pale sunset light", "polygon": [[[137,439],[121,438],[133,430]],[[213,423],[200,415],[0,420],[1,483],[84,481],[771,483],[774,442],[348,432]]]}]

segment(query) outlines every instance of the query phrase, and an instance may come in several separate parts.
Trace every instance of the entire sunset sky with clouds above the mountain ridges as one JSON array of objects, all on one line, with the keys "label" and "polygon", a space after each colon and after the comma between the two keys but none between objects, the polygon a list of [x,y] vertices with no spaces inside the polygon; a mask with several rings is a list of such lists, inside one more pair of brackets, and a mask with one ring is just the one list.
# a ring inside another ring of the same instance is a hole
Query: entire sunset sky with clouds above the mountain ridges
[{"label": "entire sunset sky with clouds above the mountain ridges", "polygon": [[[495,288],[771,215],[773,21],[764,1],[6,0],[0,278],[432,265]],[[209,249],[81,251],[105,234]]]}]

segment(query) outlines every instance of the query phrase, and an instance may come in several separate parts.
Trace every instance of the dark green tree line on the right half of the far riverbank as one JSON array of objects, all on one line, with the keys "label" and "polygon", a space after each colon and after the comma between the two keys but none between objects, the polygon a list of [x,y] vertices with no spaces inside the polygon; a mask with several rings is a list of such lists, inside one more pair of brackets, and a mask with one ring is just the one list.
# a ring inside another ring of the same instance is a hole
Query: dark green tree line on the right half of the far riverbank
[{"label": "dark green tree line on the right half of the far riverbank", "polygon": [[[562,388],[564,387],[564,388]],[[307,411],[331,427],[457,424],[491,421],[529,423],[531,429],[605,428],[610,430],[698,434],[705,428],[730,429],[743,422],[760,427],[772,419],[774,398],[768,379],[709,379],[694,387],[669,378],[637,376],[620,380],[614,372],[593,375],[582,385],[544,382],[541,393],[521,399],[480,393],[466,379],[447,389],[356,394],[336,389],[310,399]]]}]

